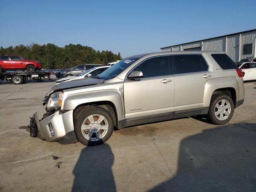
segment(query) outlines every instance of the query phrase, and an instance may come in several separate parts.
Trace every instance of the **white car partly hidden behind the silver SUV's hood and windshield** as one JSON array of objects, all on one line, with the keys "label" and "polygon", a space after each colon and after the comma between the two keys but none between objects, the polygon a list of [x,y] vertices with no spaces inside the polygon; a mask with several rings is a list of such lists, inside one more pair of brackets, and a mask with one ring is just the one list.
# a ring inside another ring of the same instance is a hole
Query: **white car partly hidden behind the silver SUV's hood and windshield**
[{"label": "white car partly hidden behind the silver SUV's hood and windshield", "polygon": [[101,74],[104,70],[106,70],[107,68],[110,68],[110,66],[94,67],[94,68],[91,68],[90,70],[84,71],[83,73],[79,74],[78,76],[68,76],[68,77],[61,78],[56,81],[56,84],[60,84],[60,83],[72,81],[72,80],[83,79],[86,77],[97,76],[98,74]]}]

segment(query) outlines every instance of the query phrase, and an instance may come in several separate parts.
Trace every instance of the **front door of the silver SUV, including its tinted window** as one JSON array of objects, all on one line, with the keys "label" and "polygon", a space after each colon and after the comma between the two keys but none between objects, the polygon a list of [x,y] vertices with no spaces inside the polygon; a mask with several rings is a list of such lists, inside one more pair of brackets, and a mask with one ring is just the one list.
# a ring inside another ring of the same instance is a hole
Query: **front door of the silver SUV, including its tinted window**
[{"label": "front door of the silver SUV, including its tinted window", "polygon": [[149,58],[132,71],[143,78],[124,81],[126,126],[173,118],[174,76],[168,56]]}]

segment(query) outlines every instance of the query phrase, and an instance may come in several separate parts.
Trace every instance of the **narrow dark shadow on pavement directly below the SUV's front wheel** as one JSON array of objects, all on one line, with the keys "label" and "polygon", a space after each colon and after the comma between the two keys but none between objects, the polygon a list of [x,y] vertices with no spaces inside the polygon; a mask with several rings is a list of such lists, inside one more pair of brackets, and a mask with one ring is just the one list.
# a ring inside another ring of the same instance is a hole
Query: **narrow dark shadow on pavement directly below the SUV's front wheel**
[{"label": "narrow dark shadow on pavement directly below the SUV's front wheel", "polygon": [[108,144],[84,148],[73,170],[72,192],[115,192],[113,162],[114,154]]}]

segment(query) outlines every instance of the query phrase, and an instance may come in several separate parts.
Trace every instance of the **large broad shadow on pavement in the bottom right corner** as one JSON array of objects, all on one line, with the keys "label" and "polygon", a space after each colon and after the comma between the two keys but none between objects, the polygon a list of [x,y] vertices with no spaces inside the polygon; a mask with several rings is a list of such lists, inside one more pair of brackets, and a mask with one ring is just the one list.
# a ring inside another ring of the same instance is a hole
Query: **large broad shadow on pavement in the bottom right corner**
[{"label": "large broad shadow on pavement in the bottom right corner", "polygon": [[176,176],[150,191],[256,191],[256,132],[248,126],[256,124],[224,125],[185,138]]}]

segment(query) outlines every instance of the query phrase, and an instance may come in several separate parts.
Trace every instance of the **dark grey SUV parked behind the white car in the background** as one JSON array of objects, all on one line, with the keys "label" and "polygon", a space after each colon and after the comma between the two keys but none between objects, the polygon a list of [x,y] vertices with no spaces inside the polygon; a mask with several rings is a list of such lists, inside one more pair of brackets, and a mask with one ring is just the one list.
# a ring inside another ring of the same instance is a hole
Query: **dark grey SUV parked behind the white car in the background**
[{"label": "dark grey SUV parked behind the white car in the background", "polygon": [[75,66],[75,67],[71,68],[70,70],[62,71],[60,73],[60,78],[69,77],[69,76],[78,76],[79,74],[81,74],[85,70],[89,70],[89,69],[92,69],[94,67],[99,67],[99,66],[102,66],[102,64],[82,64],[82,65],[78,65],[78,66]]}]

